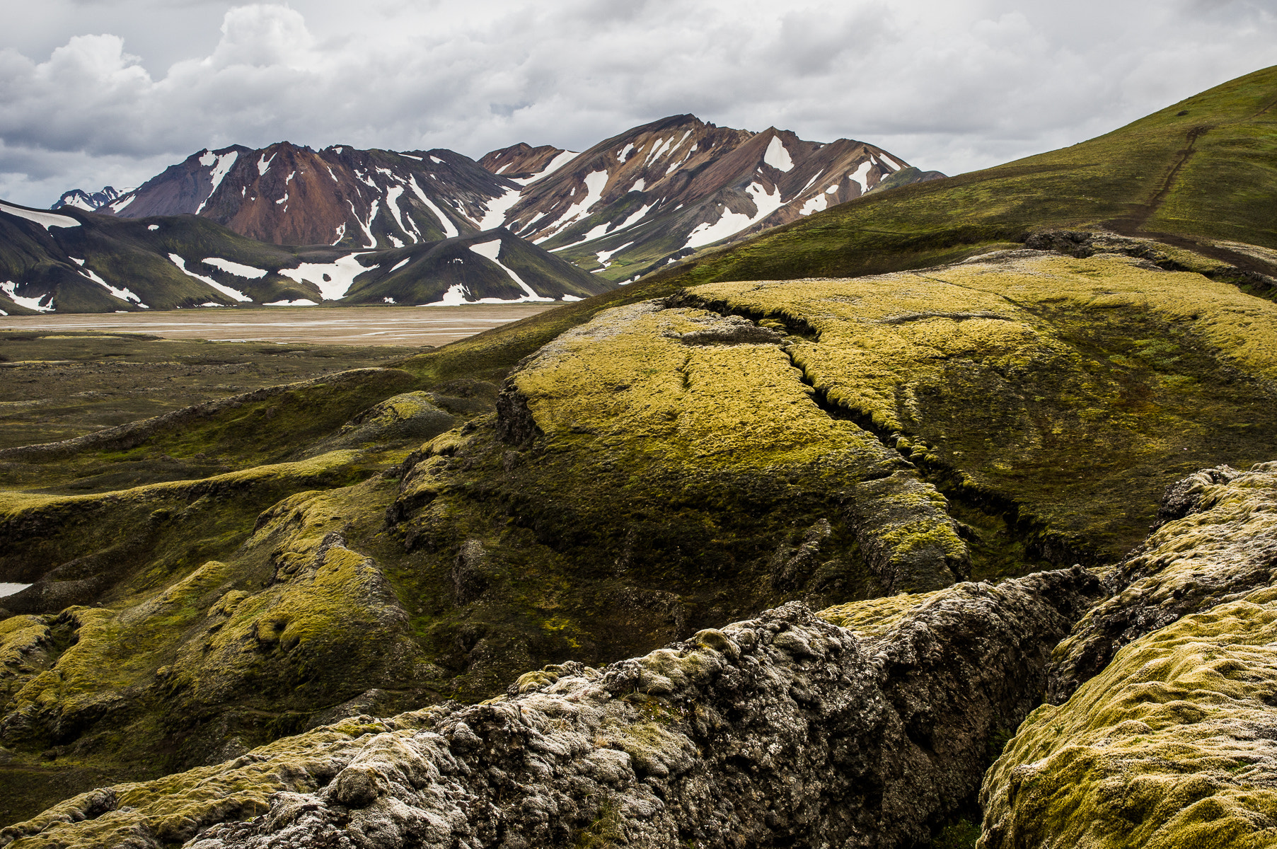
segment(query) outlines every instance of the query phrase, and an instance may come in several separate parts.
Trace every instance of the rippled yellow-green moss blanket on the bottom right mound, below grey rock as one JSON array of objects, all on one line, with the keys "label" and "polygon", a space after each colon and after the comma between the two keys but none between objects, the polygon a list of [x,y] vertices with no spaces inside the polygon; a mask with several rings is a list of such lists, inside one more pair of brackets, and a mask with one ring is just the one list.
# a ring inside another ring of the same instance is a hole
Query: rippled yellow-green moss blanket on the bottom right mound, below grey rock
[{"label": "rippled yellow-green moss blanket on the bottom right mound, below grey rock", "polygon": [[1271,846],[1277,590],[1124,647],[1020,725],[985,779],[981,846]]}]

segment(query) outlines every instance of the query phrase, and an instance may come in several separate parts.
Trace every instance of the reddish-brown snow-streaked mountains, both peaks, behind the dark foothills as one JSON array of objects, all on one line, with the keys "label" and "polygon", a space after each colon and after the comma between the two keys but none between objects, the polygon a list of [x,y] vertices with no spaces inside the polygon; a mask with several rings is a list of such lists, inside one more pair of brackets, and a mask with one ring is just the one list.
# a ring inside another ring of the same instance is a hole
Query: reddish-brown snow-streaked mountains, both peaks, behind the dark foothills
[{"label": "reddish-brown snow-streaked mountains, both peaks, behind the dark foothills", "polygon": [[861,142],[803,142],[677,115],[584,153],[515,144],[479,162],[443,149],[289,142],[204,149],[93,208],[133,218],[199,214],[273,244],[368,249],[504,225],[619,282],[880,186],[941,176]]}]

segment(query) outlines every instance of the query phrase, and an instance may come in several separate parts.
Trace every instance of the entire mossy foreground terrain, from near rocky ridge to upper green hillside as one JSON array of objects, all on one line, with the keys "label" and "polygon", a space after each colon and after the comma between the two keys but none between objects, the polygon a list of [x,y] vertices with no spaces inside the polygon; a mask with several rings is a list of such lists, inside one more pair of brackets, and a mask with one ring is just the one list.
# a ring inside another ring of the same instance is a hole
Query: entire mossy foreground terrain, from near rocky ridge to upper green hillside
[{"label": "entire mossy foreground terrain, from near rocky ridge to upper green hillside", "polygon": [[[987,845],[1271,843],[1273,102],[0,452],[0,835],[912,846],[982,798]],[[767,273],[820,262],[886,268]]]}]

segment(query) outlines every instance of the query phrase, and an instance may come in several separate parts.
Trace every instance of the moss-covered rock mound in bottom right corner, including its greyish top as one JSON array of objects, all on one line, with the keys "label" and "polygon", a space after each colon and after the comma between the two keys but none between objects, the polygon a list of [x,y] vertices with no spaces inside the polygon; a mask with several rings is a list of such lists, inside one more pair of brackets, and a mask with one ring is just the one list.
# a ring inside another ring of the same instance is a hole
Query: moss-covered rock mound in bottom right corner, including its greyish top
[{"label": "moss-covered rock mound in bottom right corner, including its greyish top", "polygon": [[1189,515],[1056,649],[1052,688],[1071,697],[1037,709],[986,776],[982,848],[1277,840],[1277,463],[1228,472],[1171,490]]}]

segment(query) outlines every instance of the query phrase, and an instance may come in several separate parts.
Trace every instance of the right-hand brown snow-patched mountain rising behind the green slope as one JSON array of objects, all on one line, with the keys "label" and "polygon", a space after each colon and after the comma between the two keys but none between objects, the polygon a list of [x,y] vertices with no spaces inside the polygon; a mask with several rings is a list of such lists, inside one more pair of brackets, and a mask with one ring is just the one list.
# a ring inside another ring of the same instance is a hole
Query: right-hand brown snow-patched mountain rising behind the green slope
[{"label": "right-hand brown snow-patched mountain rising behind the green slope", "polygon": [[[520,176],[515,169],[549,162],[552,153],[517,146],[479,162]],[[944,176],[863,142],[821,144],[775,128],[751,133],[676,115],[599,142],[517,195],[511,190],[504,223],[582,268],[632,281],[705,245],[858,198],[902,170],[911,175],[896,184]]]}]

